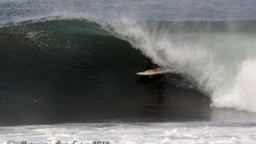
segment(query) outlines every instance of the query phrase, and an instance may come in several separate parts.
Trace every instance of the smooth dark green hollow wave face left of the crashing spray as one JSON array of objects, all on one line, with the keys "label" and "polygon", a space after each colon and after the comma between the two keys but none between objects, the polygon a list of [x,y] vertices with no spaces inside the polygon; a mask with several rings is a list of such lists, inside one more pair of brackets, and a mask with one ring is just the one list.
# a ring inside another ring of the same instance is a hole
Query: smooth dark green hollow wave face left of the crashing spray
[{"label": "smooth dark green hollow wave face left of the crashing spray", "polygon": [[186,78],[136,75],[150,60],[95,23],[26,22],[0,34],[2,125],[210,118],[209,99]]}]

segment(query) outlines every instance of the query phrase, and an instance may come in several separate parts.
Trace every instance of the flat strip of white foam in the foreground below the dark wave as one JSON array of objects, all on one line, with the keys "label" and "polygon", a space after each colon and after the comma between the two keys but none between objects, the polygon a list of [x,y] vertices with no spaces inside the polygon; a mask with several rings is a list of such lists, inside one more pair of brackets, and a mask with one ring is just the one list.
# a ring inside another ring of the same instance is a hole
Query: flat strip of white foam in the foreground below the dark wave
[{"label": "flat strip of white foam in the foreground below the dark wave", "polygon": [[[2,127],[1,143],[254,143],[255,127],[247,122],[98,123]],[[33,135],[28,137],[28,135]],[[15,137],[15,139],[14,139]]]}]

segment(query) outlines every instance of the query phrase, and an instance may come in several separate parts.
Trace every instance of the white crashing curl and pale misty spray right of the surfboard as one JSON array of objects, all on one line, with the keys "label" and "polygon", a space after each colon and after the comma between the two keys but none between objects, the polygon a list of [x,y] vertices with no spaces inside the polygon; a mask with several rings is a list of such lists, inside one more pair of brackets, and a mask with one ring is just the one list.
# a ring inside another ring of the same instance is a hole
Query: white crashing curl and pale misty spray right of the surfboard
[{"label": "white crashing curl and pale misty spray right of the surfboard", "polygon": [[[110,22],[134,47],[172,72],[188,74],[212,106],[255,112],[254,21]],[[103,25],[108,30],[107,25]],[[111,29],[110,29],[111,30]]]}]

